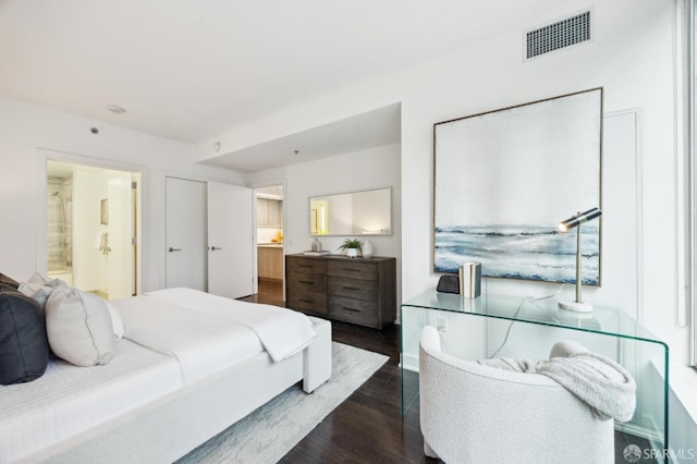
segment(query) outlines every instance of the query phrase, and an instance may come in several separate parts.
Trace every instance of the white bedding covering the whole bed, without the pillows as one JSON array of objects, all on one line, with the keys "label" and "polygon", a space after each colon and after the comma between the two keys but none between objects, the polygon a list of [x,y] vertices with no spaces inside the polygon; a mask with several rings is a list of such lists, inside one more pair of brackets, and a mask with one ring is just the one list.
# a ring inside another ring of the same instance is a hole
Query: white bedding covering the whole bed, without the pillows
[{"label": "white bedding covering the whole bed, without the pillows", "polygon": [[[0,386],[0,463],[39,455],[46,450],[52,453],[56,447],[71,443],[74,440],[71,437],[84,436],[97,426],[103,428],[110,418],[118,423],[117,416],[130,416],[170,393],[176,396],[182,391],[205,387],[217,373],[224,374],[225,369],[234,373],[237,365],[246,376],[249,373],[254,376],[248,381],[233,376],[234,384],[248,386],[231,391],[228,400],[234,403],[243,391],[259,393],[242,399],[243,404],[231,410],[234,415],[223,414],[217,424],[219,430],[213,432],[222,430],[230,417],[237,420],[239,411],[247,414],[247,403],[252,411],[301,379],[305,391],[310,392],[331,375],[330,326],[321,320],[313,322],[290,309],[186,289],[110,303],[125,326],[125,337],[115,343],[111,363],[76,367],[54,361],[44,377],[33,382]],[[321,327],[319,337],[313,328],[315,325]],[[317,342],[313,343],[315,339]],[[310,343],[308,352],[293,356]],[[264,354],[265,349],[268,355]],[[250,364],[260,358],[267,361]],[[278,362],[280,359],[285,361]],[[274,380],[256,386],[266,373]],[[184,406],[176,411],[183,411],[191,418]],[[199,438],[192,440],[200,443]],[[169,450],[168,438],[163,440],[163,449]],[[73,444],[68,445],[72,449]],[[158,450],[158,453],[162,451]],[[71,456],[70,450],[66,456]]]}]

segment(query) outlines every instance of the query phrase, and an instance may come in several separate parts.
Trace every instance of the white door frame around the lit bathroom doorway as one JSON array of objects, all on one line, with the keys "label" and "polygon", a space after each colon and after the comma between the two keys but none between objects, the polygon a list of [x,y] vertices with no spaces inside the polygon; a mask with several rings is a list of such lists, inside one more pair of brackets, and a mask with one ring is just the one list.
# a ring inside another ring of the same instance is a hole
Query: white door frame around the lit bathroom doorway
[{"label": "white door frame around the lit bathroom doorway", "polygon": [[35,188],[35,210],[36,210],[36,230],[35,230],[35,244],[36,244],[36,261],[34,264],[35,269],[42,273],[44,276],[48,274],[48,237],[47,237],[47,205],[46,205],[46,195],[47,195],[47,169],[46,163],[49,160],[72,163],[72,164],[81,164],[90,168],[98,169],[110,169],[114,171],[123,171],[130,172],[132,174],[137,174],[139,176],[139,185],[137,187],[137,195],[135,199],[136,206],[136,259],[134,261],[134,280],[135,280],[135,293],[139,294],[143,285],[143,243],[144,236],[143,233],[145,228],[143,227],[143,220],[147,217],[147,211],[144,210],[144,206],[147,205],[147,192],[145,185],[149,182],[149,170],[147,167],[142,164],[135,164],[123,161],[108,160],[102,158],[95,158],[87,155],[80,155],[70,151],[61,151],[52,148],[41,148],[38,147],[36,149],[36,188]]}]

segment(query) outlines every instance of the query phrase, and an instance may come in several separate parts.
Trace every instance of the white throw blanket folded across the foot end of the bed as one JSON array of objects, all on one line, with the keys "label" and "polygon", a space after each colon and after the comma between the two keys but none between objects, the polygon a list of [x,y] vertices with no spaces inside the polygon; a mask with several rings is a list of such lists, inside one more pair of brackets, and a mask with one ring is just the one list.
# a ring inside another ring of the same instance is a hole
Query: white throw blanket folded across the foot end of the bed
[{"label": "white throw blanket folded across the foot end of the bed", "polygon": [[279,306],[249,304],[192,289],[167,289],[146,295],[254,330],[274,362],[301,352],[317,335],[302,313]]}]

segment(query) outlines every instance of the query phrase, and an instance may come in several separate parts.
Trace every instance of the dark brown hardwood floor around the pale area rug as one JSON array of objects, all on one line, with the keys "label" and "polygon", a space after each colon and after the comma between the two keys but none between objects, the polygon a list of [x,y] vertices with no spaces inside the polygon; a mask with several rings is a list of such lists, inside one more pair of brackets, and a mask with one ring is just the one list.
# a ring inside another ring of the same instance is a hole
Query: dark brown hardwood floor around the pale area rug
[{"label": "dark brown hardwood floor around the pale area rug", "polygon": [[[260,282],[259,293],[243,300],[284,306],[283,285]],[[390,359],[280,462],[442,463],[424,455],[418,399],[411,405],[406,416],[402,416],[399,327],[389,326],[379,331],[332,321],[332,339],[386,354]],[[411,375],[407,380],[409,384],[417,383],[418,376]],[[631,443],[641,449],[648,447],[640,438],[615,432],[615,463],[627,462],[623,450]]]}]

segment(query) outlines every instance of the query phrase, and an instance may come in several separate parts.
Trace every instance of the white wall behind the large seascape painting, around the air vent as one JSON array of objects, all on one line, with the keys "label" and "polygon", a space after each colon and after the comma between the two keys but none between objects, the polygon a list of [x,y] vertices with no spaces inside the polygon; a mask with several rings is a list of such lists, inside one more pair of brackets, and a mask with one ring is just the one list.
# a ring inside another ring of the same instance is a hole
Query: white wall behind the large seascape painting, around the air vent
[{"label": "white wall behind the large seascape painting, around the air vent", "polygon": [[[557,11],[549,12],[549,20],[587,7],[587,2],[580,1],[560,3]],[[637,191],[643,195],[638,213],[643,245],[636,255],[644,264],[643,273],[637,277],[644,285],[636,300],[643,304],[643,310],[627,312],[637,315],[651,332],[669,343],[671,369],[673,373],[681,369],[682,374],[673,376],[672,384],[693,415],[693,423],[673,424],[673,429],[689,426],[695,430],[697,400],[688,393],[697,388],[697,374],[685,367],[689,333],[676,322],[677,295],[683,289],[678,288],[680,211],[675,182],[676,172],[683,167],[675,161],[674,2],[598,0],[594,7],[596,37],[591,44],[524,62],[523,30],[538,24],[521,25],[518,30],[498,34],[399,73],[357,83],[335,95],[250,122],[249,126],[237,127],[219,138],[233,150],[401,102],[402,297],[406,301],[433,288],[439,277],[432,272],[433,123],[603,87],[606,113],[636,109],[640,114],[637,152],[644,174]],[[209,156],[205,152],[209,145],[198,147],[199,158]],[[606,183],[603,194],[621,196],[626,186],[636,187],[635,180],[636,172],[626,172],[625,180]],[[304,246],[308,244],[294,249]],[[603,259],[603,269],[611,270],[610,274],[627,266],[635,266],[635,261]],[[612,303],[610,295],[621,293],[622,284],[606,279],[604,296],[603,292],[589,292],[589,296],[597,297],[592,300],[596,304]],[[499,286],[499,291],[517,294],[548,293],[545,284],[503,282]]]}]

